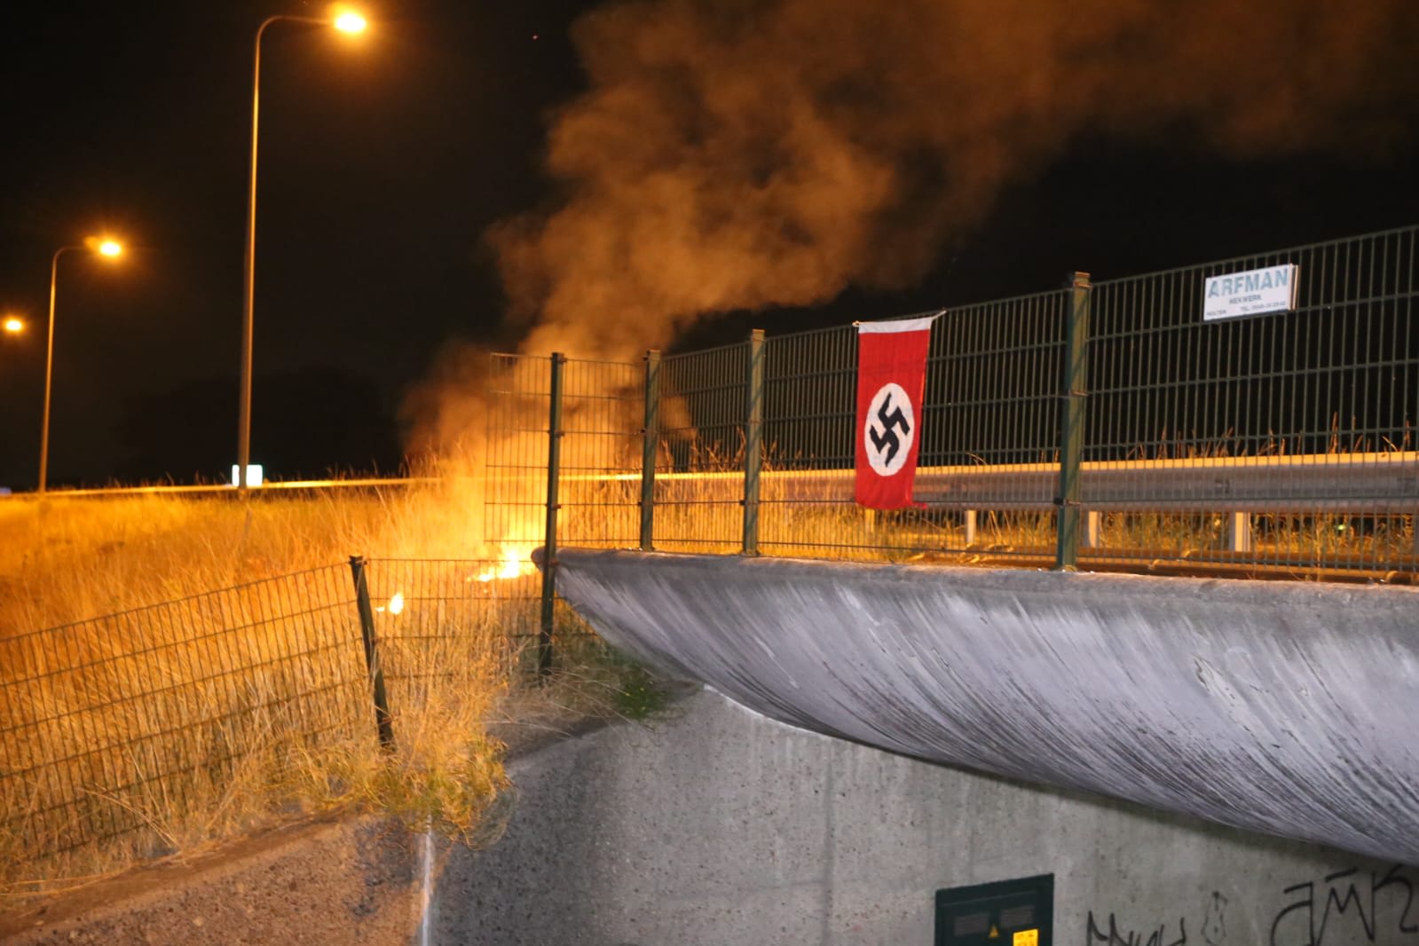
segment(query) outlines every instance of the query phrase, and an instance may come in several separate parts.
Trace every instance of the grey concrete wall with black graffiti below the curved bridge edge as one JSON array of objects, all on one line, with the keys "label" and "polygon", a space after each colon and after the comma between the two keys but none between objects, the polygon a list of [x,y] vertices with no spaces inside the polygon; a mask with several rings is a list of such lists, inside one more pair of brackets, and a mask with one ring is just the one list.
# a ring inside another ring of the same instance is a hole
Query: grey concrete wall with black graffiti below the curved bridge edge
[{"label": "grey concrete wall with black graffiti below the curved bridge edge", "polygon": [[1419,943],[1419,874],[932,764],[712,691],[511,769],[505,837],[315,825],[6,929],[30,943],[931,943],[938,888],[1053,874],[1056,943]]}]

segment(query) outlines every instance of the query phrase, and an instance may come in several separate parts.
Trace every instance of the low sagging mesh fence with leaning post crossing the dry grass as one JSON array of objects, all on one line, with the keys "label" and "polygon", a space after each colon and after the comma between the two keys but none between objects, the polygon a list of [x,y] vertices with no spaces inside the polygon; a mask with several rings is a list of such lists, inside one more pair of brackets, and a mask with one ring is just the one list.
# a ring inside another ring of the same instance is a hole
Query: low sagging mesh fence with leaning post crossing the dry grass
[{"label": "low sagging mesh fence with leaning post crossing the dry grass", "polygon": [[4,879],[166,854],[535,667],[538,579],[501,567],[352,559],[0,637]]}]

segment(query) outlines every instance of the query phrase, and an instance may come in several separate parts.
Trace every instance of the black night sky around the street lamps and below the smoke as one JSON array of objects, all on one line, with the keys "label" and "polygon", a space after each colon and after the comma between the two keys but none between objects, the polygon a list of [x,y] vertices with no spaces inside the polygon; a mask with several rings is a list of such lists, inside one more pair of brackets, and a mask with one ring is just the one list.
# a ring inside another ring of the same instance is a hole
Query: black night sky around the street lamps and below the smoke
[{"label": "black night sky around the street lamps and below the smoke", "polygon": [[[396,408],[450,339],[511,346],[482,234],[529,210],[548,113],[582,91],[569,24],[597,4],[406,0],[348,38],[263,43],[253,461],[397,467]],[[51,484],[223,477],[236,458],[251,43],[277,3],[35,4],[0,37],[0,485],[33,488],[55,248]],[[1410,98],[1412,102],[1412,98]],[[1412,108],[1412,105],[1410,105]],[[1077,138],[955,233],[910,291],[736,313],[721,343],[1419,223],[1413,136],[1240,160],[1186,136]]]}]

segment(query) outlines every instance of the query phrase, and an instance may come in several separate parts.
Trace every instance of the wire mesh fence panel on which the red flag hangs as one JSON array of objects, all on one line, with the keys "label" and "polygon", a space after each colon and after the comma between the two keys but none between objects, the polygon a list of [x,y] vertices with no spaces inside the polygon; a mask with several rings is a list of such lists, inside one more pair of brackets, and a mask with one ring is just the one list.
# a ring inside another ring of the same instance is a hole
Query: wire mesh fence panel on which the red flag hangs
[{"label": "wire mesh fence panel on which the red flag hangs", "polygon": [[[856,505],[857,332],[769,339],[761,549],[772,555],[920,559],[1051,542],[1061,294],[945,312],[928,350],[920,508]],[[1023,474],[1023,475],[1022,475]]]}]

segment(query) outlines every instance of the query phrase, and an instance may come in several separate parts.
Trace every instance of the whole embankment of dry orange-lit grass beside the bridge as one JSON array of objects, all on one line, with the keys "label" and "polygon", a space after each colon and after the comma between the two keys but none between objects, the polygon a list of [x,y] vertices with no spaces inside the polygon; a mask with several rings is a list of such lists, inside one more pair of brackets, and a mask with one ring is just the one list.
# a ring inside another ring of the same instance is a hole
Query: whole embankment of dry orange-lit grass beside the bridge
[{"label": "whole embankment of dry orange-lit grass beside the bridge", "polygon": [[[543,685],[512,672],[528,661],[509,623],[535,616],[536,579],[528,547],[521,567],[497,560],[481,513],[458,477],[247,503],[0,503],[0,909],[331,808],[495,837],[505,743],[630,715],[630,689],[637,712],[644,681],[595,641],[561,651]],[[392,752],[350,555],[421,560],[370,570]],[[522,576],[487,580],[499,569]],[[131,608],[148,610],[92,620]]]}]

